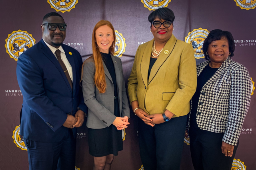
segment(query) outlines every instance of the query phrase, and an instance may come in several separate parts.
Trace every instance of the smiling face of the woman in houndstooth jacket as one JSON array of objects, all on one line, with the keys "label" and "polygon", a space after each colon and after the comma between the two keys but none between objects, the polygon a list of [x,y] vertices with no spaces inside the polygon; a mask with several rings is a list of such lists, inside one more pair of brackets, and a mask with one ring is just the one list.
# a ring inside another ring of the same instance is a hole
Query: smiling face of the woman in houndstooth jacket
[{"label": "smiling face of the woman in houndstooth jacket", "polygon": [[208,55],[211,62],[221,64],[229,55],[228,39],[222,37],[220,40],[212,41],[208,47]]}]

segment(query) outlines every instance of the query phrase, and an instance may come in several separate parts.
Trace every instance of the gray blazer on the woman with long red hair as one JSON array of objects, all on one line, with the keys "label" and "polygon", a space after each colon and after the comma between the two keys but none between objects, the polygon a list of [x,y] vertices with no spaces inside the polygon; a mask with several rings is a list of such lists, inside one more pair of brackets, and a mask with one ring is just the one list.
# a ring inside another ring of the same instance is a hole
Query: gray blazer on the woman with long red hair
[{"label": "gray blazer on the woman with long red hair", "polygon": [[[116,72],[116,84],[118,89],[118,100],[120,108],[120,117],[128,116],[130,118],[130,108],[126,95],[122,61],[116,56],[111,55]],[[86,126],[92,129],[102,129],[110,126],[116,119],[114,115],[114,84],[112,78],[103,63],[106,77],[106,92],[99,93],[94,84],[95,64],[94,59],[85,61],[83,68],[83,95],[84,103],[88,106],[88,118]]]}]

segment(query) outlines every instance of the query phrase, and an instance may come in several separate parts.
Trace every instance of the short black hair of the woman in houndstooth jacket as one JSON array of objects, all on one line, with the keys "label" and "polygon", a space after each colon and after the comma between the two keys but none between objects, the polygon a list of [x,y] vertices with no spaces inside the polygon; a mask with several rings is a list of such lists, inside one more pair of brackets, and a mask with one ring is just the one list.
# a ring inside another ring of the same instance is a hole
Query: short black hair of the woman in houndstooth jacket
[{"label": "short black hair of the woman in houndstooth jacket", "polygon": [[234,51],[235,51],[235,43],[234,43],[234,38],[232,34],[229,31],[222,31],[221,29],[214,29],[212,30],[209,35],[206,37],[204,40],[203,48],[202,50],[204,51],[204,56],[206,60],[210,60],[209,55],[206,55],[206,52],[208,51],[208,47],[212,41],[220,40],[223,37],[225,37],[228,40],[228,49],[230,52],[230,57],[234,56]]}]

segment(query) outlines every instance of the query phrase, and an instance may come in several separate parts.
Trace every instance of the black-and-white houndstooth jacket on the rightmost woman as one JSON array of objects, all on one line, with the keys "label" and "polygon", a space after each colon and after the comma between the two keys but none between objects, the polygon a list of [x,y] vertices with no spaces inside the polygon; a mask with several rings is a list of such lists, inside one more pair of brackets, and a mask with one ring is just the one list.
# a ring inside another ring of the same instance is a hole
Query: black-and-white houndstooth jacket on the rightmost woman
[{"label": "black-and-white houndstooth jacket on the rightmost woman", "polygon": [[[197,76],[208,63],[210,61],[197,65]],[[196,113],[198,127],[224,133],[222,141],[236,146],[250,98],[251,79],[248,70],[228,57],[201,90]]]}]

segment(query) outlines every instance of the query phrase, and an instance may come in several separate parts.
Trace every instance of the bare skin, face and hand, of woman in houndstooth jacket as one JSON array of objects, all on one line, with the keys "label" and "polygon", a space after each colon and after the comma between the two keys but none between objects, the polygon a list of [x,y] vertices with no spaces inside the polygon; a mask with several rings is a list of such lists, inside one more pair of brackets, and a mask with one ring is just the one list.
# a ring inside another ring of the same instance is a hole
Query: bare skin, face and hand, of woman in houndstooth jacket
[{"label": "bare skin, face and hand, of woman in houndstooth jacket", "polygon": [[[207,52],[211,60],[209,66],[219,68],[229,55],[228,39],[222,37],[220,40],[212,41],[209,44]],[[225,156],[231,157],[233,155],[234,146],[222,141],[221,150]]]}]

